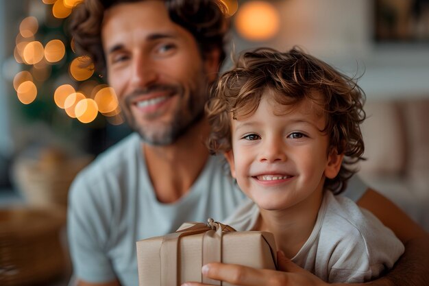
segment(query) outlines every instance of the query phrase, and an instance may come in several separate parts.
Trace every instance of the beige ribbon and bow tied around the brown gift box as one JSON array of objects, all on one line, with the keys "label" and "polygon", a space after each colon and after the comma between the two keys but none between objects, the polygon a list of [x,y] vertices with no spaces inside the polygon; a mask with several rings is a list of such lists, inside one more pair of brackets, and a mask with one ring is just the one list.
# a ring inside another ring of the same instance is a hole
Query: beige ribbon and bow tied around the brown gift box
[{"label": "beige ribbon and bow tied around the brown gift box", "polygon": [[[191,222],[183,224],[175,233],[165,235],[160,248],[161,286],[176,286],[180,281],[179,239],[187,235],[204,233],[202,239],[201,265],[210,262],[222,262],[222,235],[235,231],[234,228],[215,222],[209,218],[208,223]],[[201,275],[201,282],[210,285],[221,285],[221,281],[212,280]]]}]

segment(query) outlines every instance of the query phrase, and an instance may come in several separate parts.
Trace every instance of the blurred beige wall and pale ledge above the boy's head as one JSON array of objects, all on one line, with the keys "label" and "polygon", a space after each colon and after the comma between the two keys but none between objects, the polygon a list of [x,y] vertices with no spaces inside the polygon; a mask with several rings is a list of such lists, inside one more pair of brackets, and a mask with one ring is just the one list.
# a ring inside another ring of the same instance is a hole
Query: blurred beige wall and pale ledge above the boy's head
[{"label": "blurred beige wall and pale ledge above the boy's head", "polygon": [[234,38],[236,50],[259,45],[282,51],[300,45],[349,75],[369,99],[429,97],[429,43],[380,45],[372,40],[371,0],[278,0],[278,36],[267,43]]}]

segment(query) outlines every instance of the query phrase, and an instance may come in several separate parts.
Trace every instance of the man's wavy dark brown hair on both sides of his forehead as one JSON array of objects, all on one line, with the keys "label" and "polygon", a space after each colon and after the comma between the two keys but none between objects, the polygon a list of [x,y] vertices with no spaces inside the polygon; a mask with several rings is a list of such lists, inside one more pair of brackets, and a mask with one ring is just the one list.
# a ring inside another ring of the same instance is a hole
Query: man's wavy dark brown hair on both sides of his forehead
[{"label": "man's wavy dark brown hair on both sides of his forehead", "polygon": [[[106,57],[101,43],[101,25],[104,12],[114,5],[145,0],[85,0],[70,16],[69,30],[77,54],[89,56],[95,69],[106,73]],[[161,1],[161,0],[160,0]],[[188,30],[197,41],[204,58],[210,51],[219,49],[219,63],[225,59],[225,34],[229,21],[227,8],[220,0],[163,0],[171,21]],[[130,19],[132,21],[132,19]],[[88,66],[90,62],[88,62]]]}]

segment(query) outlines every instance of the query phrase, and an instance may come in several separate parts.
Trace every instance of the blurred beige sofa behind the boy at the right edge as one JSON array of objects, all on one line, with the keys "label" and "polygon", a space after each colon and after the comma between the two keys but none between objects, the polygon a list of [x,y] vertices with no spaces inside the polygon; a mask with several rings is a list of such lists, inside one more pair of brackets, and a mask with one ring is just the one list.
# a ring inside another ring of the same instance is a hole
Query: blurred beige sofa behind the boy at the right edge
[{"label": "blurred beige sofa behind the boy at the right edge", "polygon": [[358,174],[429,231],[429,97],[367,99]]}]

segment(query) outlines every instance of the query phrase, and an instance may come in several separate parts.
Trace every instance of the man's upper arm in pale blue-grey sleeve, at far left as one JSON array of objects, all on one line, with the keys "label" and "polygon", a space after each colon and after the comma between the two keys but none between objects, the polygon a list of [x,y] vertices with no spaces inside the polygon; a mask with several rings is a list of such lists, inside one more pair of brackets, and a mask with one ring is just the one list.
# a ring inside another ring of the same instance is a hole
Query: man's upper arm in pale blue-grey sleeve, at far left
[{"label": "man's upper arm in pale blue-grey sleeve, at far left", "polygon": [[102,207],[106,200],[91,188],[85,176],[77,175],[69,191],[67,235],[74,272],[69,286],[121,286],[103,248],[110,218]]}]

